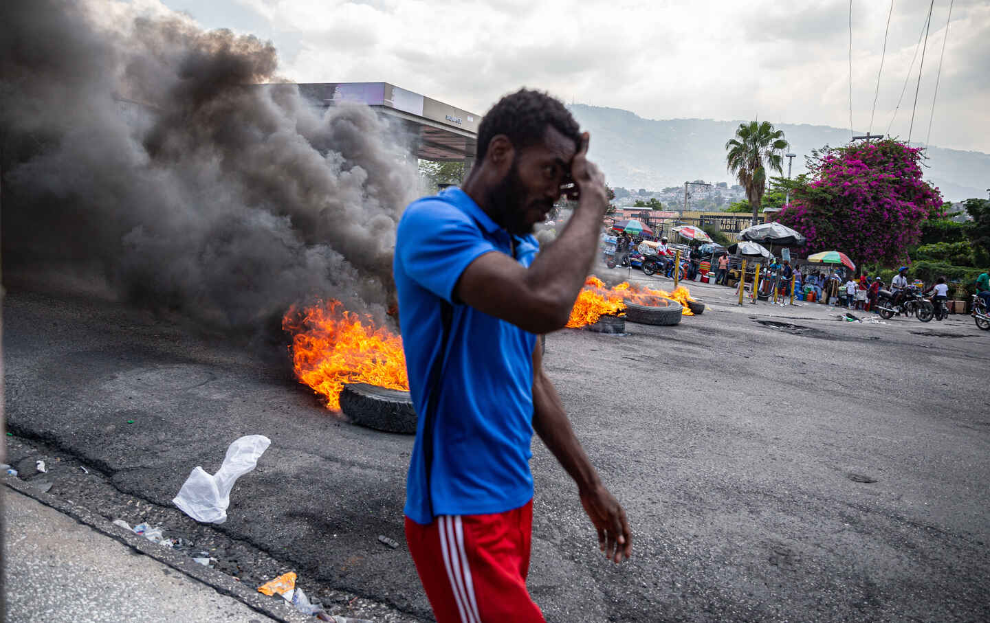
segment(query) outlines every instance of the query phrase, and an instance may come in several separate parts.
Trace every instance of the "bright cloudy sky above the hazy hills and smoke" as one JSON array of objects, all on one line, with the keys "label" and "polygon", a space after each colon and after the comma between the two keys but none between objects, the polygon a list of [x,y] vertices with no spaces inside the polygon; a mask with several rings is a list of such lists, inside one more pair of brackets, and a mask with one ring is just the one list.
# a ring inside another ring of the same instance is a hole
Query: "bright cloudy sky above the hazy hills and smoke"
[{"label": "bright cloudy sky above the hazy hills and smoke", "polygon": [[[391,82],[479,114],[526,85],[650,119],[849,127],[847,0],[162,1],[273,41],[300,82]],[[990,2],[954,0],[946,39],[949,1],[935,1],[911,138],[932,120],[933,145],[990,152]],[[851,4],[852,126],[906,138],[931,1],[894,0],[875,116],[891,4]]]}]

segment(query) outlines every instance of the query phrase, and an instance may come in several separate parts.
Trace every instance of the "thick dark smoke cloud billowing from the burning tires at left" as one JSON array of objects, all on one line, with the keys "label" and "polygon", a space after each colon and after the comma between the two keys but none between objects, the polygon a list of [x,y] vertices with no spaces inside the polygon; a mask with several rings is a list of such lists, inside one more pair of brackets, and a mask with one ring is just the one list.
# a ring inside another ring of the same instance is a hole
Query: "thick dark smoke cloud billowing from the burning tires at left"
[{"label": "thick dark smoke cloud billowing from the burning tires at left", "polygon": [[5,273],[97,275],[250,327],[313,297],[381,312],[413,160],[366,107],[280,82],[270,43],[160,7],[0,3]]}]

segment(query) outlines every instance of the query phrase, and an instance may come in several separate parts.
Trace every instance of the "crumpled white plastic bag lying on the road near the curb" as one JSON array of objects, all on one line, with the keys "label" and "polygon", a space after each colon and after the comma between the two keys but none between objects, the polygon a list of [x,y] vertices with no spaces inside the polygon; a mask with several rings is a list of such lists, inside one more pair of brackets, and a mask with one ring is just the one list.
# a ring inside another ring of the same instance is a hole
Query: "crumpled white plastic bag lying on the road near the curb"
[{"label": "crumpled white plastic bag lying on the road near the curb", "polygon": [[269,444],[271,440],[264,435],[241,437],[227,449],[224,464],[216,474],[211,476],[196,466],[172,502],[196,521],[227,521],[227,507],[231,505],[234,483],[254,469]]}]

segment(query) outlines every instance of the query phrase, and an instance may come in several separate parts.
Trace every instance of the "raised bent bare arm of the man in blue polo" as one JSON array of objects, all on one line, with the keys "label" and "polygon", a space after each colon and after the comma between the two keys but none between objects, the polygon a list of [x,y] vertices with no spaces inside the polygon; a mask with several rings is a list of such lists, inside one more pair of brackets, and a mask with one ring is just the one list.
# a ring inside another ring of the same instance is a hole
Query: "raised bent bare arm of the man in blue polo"
[{"label": "raised bent bare arm of the man in blue polo", "polygon": [[580,193],[578,207],[563,231],[529,268],[503,253],[475,259],[457,282],[461,302],[533,333],[555,331],[567,323],[594,261],[608,206],[605,178],[586,159],[588,134],[582,137],[571,164]]}]

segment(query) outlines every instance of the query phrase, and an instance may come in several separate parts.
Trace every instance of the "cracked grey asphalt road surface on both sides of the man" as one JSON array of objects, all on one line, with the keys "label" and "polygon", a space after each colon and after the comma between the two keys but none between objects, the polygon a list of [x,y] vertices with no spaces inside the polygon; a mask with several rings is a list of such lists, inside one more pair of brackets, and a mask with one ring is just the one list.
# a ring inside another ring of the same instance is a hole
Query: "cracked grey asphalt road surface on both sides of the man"
[{"label": "cracked grey asphalt road surface on both sides of the man", "polygon": [[[607,563],[534,443],[530,588],[547,619],[990,619],[990,332],[968,316],[741,309],[728,289],[691,287],[710,309],[677,326],[547,339],[549,375],[634,530],[634,559]],[[237,437],[267,435],[215,530],[430,618],[405,549],[377,541],[404,541],[410,437],[347,424],[247,344],[95,297],[13,289],[4,356],[9,429],[151,506],[171,508]]]}]

